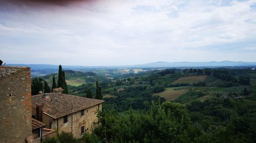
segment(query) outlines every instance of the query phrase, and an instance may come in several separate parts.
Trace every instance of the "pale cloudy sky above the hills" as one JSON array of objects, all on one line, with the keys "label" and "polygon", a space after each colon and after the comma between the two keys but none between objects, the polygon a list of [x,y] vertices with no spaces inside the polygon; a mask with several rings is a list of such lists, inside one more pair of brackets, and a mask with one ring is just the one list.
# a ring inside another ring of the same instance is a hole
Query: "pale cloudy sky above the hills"
[{"label": "pale cloudy sky above the hills", "polygon": [[8,64],[256,62],[256,0],[0,0]]}]

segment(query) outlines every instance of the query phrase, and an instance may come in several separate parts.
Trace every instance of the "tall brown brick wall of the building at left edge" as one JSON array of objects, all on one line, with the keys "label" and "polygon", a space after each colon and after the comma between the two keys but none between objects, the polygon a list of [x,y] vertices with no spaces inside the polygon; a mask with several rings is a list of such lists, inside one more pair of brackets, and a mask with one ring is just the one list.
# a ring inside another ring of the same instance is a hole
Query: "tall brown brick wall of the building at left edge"
[{"label": "tall brown brick wall of the building at left edge", "polygon": [[0,78],[0,142],[25,142],[32,135],[30,68]]}]

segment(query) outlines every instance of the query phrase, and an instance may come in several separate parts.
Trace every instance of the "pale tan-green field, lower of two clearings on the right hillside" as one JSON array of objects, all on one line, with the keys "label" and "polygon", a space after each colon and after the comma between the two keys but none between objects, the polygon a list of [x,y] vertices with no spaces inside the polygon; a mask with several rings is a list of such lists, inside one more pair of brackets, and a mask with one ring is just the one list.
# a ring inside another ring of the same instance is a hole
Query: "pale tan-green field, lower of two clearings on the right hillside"
[{"label": "pale tan-green field, lower of two clearings on the right hillside", "polygon": [[153,95],[159,95],[165,98],[167,101],[173,101],[187,92],[187,89],[175,90],[178,88],[166,88],[165,91],[160,93],[154,93]]}]

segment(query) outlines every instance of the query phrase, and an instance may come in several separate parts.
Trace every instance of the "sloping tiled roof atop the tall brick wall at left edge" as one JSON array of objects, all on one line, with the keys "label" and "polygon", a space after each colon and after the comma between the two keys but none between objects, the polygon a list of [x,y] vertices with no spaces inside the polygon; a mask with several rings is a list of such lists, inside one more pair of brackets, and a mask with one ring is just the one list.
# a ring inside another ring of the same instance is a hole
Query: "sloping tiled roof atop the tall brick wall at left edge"
[{"label": "sloping tiled roof atop the tall brick wall at left edge", "polygon": [[29,69],[29,67],[0,66],[0,79],[25,69]]}]

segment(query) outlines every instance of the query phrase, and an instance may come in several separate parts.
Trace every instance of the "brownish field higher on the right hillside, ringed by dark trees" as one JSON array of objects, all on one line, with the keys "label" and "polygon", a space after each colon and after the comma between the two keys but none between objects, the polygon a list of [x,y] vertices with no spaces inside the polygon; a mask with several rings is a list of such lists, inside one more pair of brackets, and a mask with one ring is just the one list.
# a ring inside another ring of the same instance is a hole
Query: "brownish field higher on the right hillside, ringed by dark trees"
[{"label": "brownish field higher on the right hillside, ringed by dark trees", "polygon": [[204,81],[206,75],[198,75],[198,76],[189,76],[189,77],[181,77],[173,82],[173,84],[178,83],[198,83],[200,81]]}]

